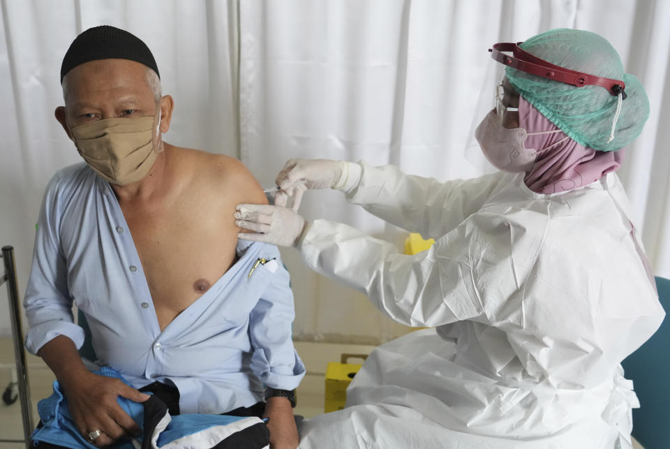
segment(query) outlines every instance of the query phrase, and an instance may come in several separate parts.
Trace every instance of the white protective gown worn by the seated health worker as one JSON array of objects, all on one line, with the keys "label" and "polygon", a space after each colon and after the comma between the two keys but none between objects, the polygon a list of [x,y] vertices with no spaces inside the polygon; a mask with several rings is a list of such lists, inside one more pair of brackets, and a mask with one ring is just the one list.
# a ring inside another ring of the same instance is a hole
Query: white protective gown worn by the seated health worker
[{"label": "white protective gown worn by the seated health worker", "polygon": [[630,448],[620,362],[664,311],[610,173],[571,191],[523,174],[441,183],[362,163],[348,199],[435,244],[407,256],[316,220],[306,263],[419,330],[377,348],[300,448]]}]

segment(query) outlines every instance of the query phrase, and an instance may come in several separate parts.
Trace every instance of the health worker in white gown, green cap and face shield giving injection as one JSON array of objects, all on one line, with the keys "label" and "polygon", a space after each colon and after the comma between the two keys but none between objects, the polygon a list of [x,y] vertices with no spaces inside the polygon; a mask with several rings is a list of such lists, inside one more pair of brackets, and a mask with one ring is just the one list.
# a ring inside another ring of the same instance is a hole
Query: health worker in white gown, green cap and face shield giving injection
[{"label": "health worker in white gown, green cap and face shield giving injection", "polygon": [[295,160],[277,178],[285,194],[339,189],[434,238],[428,251],[406,256],[286,207],[237,208],[253,231],[241,238],[295,246],[395,321],[433,327],[377,348],[347,406],[302,425],[301,448],[632,447],[639,402],[620,362],[664,311],[615,171],[648,117],[646,94],[588,31],[491,54],[505,78],[476,135],[499,172],[441,183]]}]

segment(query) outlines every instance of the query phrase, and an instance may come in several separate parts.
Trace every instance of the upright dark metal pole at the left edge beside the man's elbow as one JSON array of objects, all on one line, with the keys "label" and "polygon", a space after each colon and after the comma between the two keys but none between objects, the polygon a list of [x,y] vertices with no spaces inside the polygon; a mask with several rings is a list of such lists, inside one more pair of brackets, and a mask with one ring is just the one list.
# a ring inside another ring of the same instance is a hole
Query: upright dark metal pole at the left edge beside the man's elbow
[{"label": "upright dark metal pole at the left edge beside the man's elbow", "polygon": [[23,434],[26,447],[30,447],[30,436],[33,434],[33,406],[30,402],[30,385],[26,366],[26,351],[23,346],[23,330],[21,327],[21,307],[19,302],[19,285],[16,279],[16,263],[14,261],[14,247],[3,246],[2,258],[5,263],[5,280],[9,294],[9,313],[14,335],[14,358],[16,360],[16,374],[19,378],[19,400],[23,419]]}]

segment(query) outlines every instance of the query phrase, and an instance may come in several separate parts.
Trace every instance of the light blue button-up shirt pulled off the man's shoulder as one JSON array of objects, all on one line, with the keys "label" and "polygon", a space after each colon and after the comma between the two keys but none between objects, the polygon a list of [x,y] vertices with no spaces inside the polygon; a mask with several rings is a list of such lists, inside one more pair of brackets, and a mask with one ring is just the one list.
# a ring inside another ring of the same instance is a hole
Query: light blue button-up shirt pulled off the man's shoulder
[{"label": "light blue button-up shirt pulled off the man's shoulder", "polygon": [[[135,388],[179,388],[182,413],[224,413],[263,399],[263,385],[296,388],[289,275],[276,246],[239,241],[239,260],[163,332],[133,237],[110,184],[85,163],[60,170],[40,210],[24,306],[28,351],[57,335],[80,348],[86,315],[98,365]],[[270,260],[258,264],[260,258]]]}]

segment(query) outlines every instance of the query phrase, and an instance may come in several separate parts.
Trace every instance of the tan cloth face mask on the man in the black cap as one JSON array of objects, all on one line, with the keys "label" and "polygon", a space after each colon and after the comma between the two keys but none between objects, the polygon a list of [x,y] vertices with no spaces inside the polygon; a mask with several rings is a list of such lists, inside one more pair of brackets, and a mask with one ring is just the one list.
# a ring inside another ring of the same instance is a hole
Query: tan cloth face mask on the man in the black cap
[{"label": "tan cloth face mask on the man in the black cap", "polygon": [[[158,124],[160,117],[159,113]],[[70,132],[79,154],[98,175],[111,184],[125,186],[144,178],[156,162],[155,118],[103,119],[75,126]]]}]

